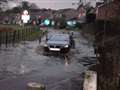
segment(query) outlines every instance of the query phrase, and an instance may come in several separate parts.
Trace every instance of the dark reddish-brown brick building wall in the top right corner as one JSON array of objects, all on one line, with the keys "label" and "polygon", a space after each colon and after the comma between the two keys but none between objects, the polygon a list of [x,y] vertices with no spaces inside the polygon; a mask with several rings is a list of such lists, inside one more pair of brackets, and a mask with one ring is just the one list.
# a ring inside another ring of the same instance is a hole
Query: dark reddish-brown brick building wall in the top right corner
[{"label": "dark reddish-brown brick building wall in the top right corner", "polygon": [[115,0],[98,8],[97,19],[109,20],[120,16],[120,1]]}]

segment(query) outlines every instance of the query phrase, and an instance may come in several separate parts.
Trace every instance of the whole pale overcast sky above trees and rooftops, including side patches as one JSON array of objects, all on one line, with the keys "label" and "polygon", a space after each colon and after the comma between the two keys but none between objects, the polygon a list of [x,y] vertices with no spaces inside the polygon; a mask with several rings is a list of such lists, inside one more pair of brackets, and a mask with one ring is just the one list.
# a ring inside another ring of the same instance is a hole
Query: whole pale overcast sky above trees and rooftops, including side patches
[{"label": "whole pale overcast sky above trees and rooftops, including side patches", "polygon": [[[9,1],[9,0],[8,0]],[[14,2],[9,1],[8,8],[15,7],[21,1],[28,1],[35,3],[39,8],[51,8],[51,9],[64,9],[64,8],[77,8],[79,0],[14,0]],[[95,1],[98,0],[83,0],[91,2],[95,6]],[[85,2],[84,2],[85,3]]]}]

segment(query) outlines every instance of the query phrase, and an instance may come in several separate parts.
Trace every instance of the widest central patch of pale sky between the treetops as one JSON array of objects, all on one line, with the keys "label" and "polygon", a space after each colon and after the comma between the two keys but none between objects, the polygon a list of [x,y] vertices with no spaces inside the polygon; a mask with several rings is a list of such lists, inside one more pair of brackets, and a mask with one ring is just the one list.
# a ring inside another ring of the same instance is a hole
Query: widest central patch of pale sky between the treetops
[{"label": "widest central patch of pale sky between the treetops", "polygon": [[52,9],[63,9],[63,8],[77,8],[79,0],[26,0],[35,3],[39,8],[52,8]]}]

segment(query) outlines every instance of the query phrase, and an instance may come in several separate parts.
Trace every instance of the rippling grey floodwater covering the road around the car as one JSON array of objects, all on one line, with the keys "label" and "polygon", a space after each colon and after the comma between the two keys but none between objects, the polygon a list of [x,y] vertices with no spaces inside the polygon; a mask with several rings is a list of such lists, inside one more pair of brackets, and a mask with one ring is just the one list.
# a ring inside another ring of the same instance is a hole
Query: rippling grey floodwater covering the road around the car
[{"label": "rippling grey floodwater covering the road around the car", "polygon": [[75,49],[69,53],[70,60],[61,55],[44,55],[39,41],[1,48],[0,90],[26,90],[29,82],[42,83],[47,90],[81,90],[83,72],[96,63],[96,58],[92,43],[79,32],[74,32],[74,36]]}]

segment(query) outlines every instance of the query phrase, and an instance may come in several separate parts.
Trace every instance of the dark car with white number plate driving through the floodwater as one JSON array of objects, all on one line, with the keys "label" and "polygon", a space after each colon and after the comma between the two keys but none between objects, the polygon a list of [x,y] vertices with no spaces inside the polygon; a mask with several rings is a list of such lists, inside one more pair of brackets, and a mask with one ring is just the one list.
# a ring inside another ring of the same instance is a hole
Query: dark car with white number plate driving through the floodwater
[{"label": "dark car with white number plate driving through the floodwater", "polygon": [[71,38],[69,34],[51,34],[47,36],[44,44],[44,51],[69,52],[71,48]]}]

